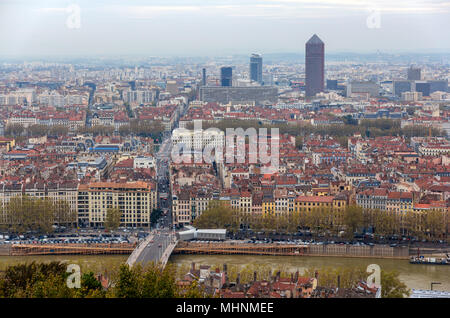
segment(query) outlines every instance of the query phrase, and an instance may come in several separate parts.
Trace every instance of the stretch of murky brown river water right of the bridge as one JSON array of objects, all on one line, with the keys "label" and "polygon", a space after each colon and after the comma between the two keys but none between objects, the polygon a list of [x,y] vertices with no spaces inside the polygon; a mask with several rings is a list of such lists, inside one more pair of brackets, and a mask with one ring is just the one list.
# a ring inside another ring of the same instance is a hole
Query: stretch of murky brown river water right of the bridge
[{"label": "stretch of murky brown river water right of the bridge", "polygon": [[400,279],[409,288],[430,289],[431,282],[440,282],[441,285],[433,286],[434,290],[450,291],[450,266],[412,265],[408,260],[319,256],[172,255],[170,261],[178,266],[187,266],[192,262],[198,265],[229,264],[239,267],[253,263],[269,265],[273,269],[286,266],[290,271],[298,270],[300,273],[311,267],[367,267],[369,264],[378,264],[382,270],[397,270]]}]

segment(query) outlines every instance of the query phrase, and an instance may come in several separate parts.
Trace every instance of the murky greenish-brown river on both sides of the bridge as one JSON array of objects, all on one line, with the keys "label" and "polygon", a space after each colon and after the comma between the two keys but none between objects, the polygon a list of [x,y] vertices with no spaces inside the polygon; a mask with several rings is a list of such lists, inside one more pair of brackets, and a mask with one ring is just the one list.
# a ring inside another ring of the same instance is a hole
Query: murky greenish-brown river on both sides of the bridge
[{"label": "murky greenish-brown river on both sides of the bridge", "polygon": [[[98,273],[108,269],[111,273],[115,272],[127,258],[127,255],[0,256],[0,270],[8,265],[34,260],[36,262],[63,261],[80,265],[82,272],[92,270]],[[287,267],[292,272],[299,270],[300,273],[311,267],[367,267],[369,264],[378,264],[381,269],[397,270],[400,279],[409,288],[430,289],[431,282],[440,282],[441,285],[434,285],[433,289],[450,291],[450,266],[412,265],[407,260],[321,256],[172,255],[169,261],[183,268],[189,267],[192,262],[195,262],[197,266],[228,264],[239,267],[253,263],[269,265],[273,269]]]}]

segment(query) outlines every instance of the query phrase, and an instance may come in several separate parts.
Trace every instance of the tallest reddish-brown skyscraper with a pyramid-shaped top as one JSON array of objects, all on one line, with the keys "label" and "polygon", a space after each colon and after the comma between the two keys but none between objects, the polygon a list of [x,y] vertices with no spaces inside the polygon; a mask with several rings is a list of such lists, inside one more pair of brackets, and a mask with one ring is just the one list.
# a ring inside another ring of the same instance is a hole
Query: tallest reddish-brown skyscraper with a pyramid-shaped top
[{"label": "tallest reddish-brown skyscraper with a pyramid-shaped top", "polygon": [[323,92],[325,83],[325,44],[314,34],[305,45],[306,96]]}]

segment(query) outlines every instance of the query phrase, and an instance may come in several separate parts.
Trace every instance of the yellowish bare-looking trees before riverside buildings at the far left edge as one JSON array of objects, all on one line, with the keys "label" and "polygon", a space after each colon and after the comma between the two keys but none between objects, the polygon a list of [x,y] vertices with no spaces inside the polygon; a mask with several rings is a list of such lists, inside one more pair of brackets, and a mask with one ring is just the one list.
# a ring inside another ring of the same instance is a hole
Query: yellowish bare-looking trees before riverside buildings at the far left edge
[{"label": "yellowish bare-looking trees before riverside buildings at the far left edge", "polygon": [[27,195],[11,198],[1,212],[0,228],[11,233],[51,233],[54,224],[70,227],[77,221],[76,211],[67,201],[53,202],[49,198]]}]

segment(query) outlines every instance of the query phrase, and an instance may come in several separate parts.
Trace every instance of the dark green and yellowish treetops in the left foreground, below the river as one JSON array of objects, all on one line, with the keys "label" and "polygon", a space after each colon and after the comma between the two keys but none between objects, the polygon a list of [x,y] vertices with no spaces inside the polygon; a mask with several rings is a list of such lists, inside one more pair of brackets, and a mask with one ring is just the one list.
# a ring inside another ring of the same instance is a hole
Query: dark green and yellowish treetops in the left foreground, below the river
[{"label": "dark green and yellowish treetops in the left foreground, below the river", "polygon": [[94,273],[81,275],[80,288],[70,288],[76,278],[59,262],[13,265],[0,274],[0,298],[174,298],[203,297],[194,284],[181,288],[176,284],[173,265],[164,269],[150,264],[145,268],[123,264],[111,277],[111,287],[103,288]]}]

